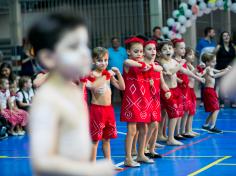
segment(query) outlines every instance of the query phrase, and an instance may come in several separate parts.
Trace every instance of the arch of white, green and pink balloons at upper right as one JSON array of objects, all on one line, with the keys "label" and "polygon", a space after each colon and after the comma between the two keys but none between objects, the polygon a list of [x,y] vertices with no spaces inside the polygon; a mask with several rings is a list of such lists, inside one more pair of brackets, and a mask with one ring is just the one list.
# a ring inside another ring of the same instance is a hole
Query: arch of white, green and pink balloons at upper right
[{"label": "arch of white, green and pink balloons at upper right", "polygon": [[172,18],[167,19],[167,26],[162,28],[164,38],[182,38],[186,28],[190,27],[197,17],[221,9],[236,13],[236,0],[189,0],[182,2],[179,8],[172,12]]}]

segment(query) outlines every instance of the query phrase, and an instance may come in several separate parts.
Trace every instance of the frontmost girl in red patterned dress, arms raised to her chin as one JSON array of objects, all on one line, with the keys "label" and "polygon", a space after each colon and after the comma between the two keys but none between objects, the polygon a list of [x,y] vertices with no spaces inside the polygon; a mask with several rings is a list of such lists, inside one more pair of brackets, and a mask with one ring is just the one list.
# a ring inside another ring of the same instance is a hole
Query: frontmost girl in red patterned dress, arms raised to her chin
[{"label": "frontmost girl in red patterned dress, arms raised to her chin", "polygon": [[[143,62],[143,43],[144,41],[137,37],[131,37],[125,41],[129,59],[124,62],[124,81],[126,89],[122,99],[121,121],[127,122],[126,136],[126,159],[125,166],[139,167],[138,162],[154,163],[144,155],[145,141],[147,135],[147,123],[150,122],[148,110],[148,91],[144,84],[143,72],[151,68]],[[136,161],[133,160],[131,151],[132,145],[136,145],[134,137],[139,131],[139,149]]]}]

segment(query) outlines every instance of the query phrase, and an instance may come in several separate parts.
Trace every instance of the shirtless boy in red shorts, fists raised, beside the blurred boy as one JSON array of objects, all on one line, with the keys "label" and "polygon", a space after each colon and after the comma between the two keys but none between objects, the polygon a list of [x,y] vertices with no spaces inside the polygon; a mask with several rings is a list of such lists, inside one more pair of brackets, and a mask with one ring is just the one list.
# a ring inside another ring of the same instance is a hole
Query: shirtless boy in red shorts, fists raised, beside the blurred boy
[{"label": "shirtless boy in red shorts, fists raised, beside the blurred boy", "polygon": [[[115,113],[111,105],[110,83],[117,89],[124,90],[125,83],[118,68],[113,67],[107,71],[108,51],[103,47],[93,50],[93,62],[95,69],[91,76],[93,81],[87,79],[87,87],[92,93],[90,105],[90,132],[93,140],[92,161],[96,161],[97,147],[102,140],[102,148],[105,158],[111,160],[110,139],[117,137]],[[116,79],[114,76],[117,76]],[[91,79],[90,79],[91,80]],[[120,170],[122,168],[115,167]]]}]

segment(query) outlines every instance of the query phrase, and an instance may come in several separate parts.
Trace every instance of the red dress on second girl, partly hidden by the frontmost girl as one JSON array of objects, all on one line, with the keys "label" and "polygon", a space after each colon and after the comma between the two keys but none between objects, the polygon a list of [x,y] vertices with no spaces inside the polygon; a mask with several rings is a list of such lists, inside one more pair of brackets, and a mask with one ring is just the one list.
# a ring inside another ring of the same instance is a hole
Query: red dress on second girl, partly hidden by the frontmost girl
[{"label": "red dress on second girl, partly hidden by the frontmost girl", "polygon": [[[155,65],[158,65],[155,63]],[[161,122],[161,104],[160,104],[160,72],[156,72],[153,69],[147,72],[148,79],[150,80],[147,87],[150,92],[150,115],[151,122]]]}]

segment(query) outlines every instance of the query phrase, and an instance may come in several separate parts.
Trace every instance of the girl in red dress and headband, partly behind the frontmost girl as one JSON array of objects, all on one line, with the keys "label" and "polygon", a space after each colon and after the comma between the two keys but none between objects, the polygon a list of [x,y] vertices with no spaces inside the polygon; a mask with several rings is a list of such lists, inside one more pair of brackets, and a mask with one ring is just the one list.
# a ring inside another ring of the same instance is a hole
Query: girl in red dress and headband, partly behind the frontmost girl
[{"label": "girl in red dress and headband, partly behind the frontmost girl", "polygon": [[[154,62],[157,53],[156,46],[157,43],[153,40],[149,40],[144,43],[144,62],[151,66],[159,66],[157,62]],[[161,122],[160,90],[163,89],[166,92],[165,96],[167,98],[170,97],[171,93],[169,92],[169,88],[164,81],[162,71],[157,72],[151,68],[147,72],[144,72],[144,74],[146,80],[145,83],[147,84],[147,91],[150,96],[148,102],[150,104],[149,113],[151,115],[151,121],[148,124],[145,155],[150,158],[160,158],[161,155],[155,152],[158,124]]]}]

